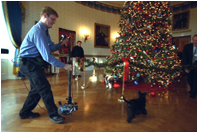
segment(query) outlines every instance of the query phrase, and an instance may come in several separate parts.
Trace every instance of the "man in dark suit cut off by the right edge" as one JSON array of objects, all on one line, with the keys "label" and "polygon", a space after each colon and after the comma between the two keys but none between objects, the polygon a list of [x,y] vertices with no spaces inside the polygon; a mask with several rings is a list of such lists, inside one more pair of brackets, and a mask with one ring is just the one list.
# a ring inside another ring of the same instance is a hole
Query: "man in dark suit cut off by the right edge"
[{"label": "man in dark suit cut off by the right edge", "polygon": [[191,88],[190,98],[195,98],[197,96],[197,35],[193,36],[192,43],[184,46],[182,65],[193,66],[191,70],[185,68],[184,71],[188,73],[188,84]]}]

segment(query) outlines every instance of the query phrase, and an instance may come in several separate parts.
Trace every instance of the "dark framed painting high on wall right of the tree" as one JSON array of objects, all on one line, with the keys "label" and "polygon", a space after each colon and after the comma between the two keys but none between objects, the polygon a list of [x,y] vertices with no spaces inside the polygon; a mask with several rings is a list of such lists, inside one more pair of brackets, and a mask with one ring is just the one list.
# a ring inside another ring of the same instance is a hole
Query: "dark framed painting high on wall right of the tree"
[{"label": "dark framed painting high on wall right of the tree", "polygon": [[172,31],[188,29],[189,15],[190,11],[173,14]]}]

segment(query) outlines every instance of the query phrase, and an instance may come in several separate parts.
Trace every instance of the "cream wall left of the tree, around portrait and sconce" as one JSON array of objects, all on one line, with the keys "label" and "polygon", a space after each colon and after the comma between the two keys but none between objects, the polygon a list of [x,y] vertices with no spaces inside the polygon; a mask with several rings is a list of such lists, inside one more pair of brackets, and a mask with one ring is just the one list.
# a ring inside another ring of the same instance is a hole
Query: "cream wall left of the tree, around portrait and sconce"
[{"label": "cream wall left of the tree, around portrait and sconce", "polygon": [[[109,55],[109,48],[94,48],[94,23],[110,25],[110,44],[114,42],[113,35],[119,31],[119,15],[103,12],[74,1],[25,1],[26,17],[23,23],[22,37],[26,35],[35,21],[40,19],[40,11],[44,6],[50,6],[57,11],[59,17],[56,24],[49,30],[53,42],[58,42],[58,30],[64,28],[76,31],[76,41],[81,40],[85,55]],[[82,29],[90,33],[89,40],[84,43]]]}]

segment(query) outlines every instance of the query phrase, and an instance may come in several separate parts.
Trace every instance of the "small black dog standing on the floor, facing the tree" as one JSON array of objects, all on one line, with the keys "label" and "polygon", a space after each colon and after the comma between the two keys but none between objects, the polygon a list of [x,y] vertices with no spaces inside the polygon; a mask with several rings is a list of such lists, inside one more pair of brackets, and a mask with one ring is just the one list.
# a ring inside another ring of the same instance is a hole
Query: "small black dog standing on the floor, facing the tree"
[{"label": "small black dog standing on the floor, facing the tree", "polygon": [[127,101],[124,96],[123,99],[127,103],[126,109],[127,109],[127,122],[130,123],[133,118],[135,118],[135,115],[139,114],[147,114],[147,111],[145,109],[146,107],[146,92],[141,93],[138,91],[139,98],[138,99],[132,99],[130,101]]}]

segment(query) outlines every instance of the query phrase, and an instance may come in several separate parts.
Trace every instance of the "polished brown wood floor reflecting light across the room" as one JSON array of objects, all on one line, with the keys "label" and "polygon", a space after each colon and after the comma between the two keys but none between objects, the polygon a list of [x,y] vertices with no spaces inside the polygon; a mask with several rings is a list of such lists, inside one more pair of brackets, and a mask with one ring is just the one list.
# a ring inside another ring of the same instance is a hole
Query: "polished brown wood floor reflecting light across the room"
[{"label": "polished brown wood floor reflecting light across the room", "polygon": [[[33,112],[41,116],[35,119],[19,119],[18,113],[28,94],[22,80],[1,81],[1,131],[2,132],[197,132],[197,98],[189,98],[186,79],[175,88],[147,95],[146,116],[139,115],[131,123],[126,122],[126,103],[118,102],[121,88],[109,92],[102,84],[103,70],[86,71],[87,88],[81,89],[83,78],[72,79],[72,94],[78,110],[73,117],[65,116],[62,124],[49,121],[47,112],[37,106]],[[51,83],[55,102],[66,103],[68,96],[68,72],[47,76]],[[83,75],[81,73],[81,75]],[[29,81],[25,79],[29,87]],[[127,99],[137,98],[137,90],[125,90]],[[40,106],[45,109],[42,100]]]}]

